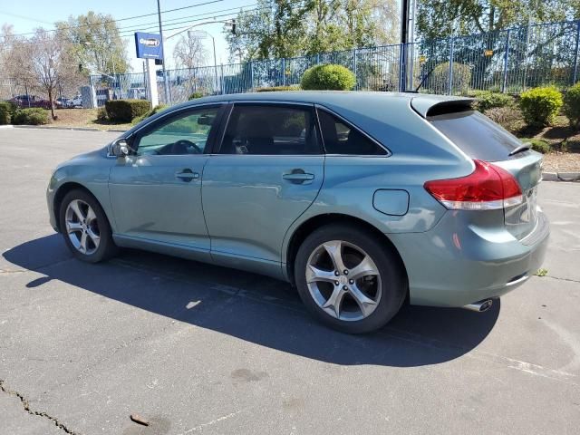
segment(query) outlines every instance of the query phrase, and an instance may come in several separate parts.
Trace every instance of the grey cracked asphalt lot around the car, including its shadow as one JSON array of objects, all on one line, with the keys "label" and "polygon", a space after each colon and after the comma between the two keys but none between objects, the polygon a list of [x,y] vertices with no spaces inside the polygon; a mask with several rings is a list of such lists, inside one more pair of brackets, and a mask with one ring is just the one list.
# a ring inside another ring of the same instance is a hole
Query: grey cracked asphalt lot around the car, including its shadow
[{"label": "grey cracked asphalt lot around the car, including its shadow", "polygon": [[546,276],[484,314],[406,307],[351,336],[260,275],[74,260],[45,188],[116,134],[0,130],[1,434],[578,433],[580,184],[540,186]]}]

